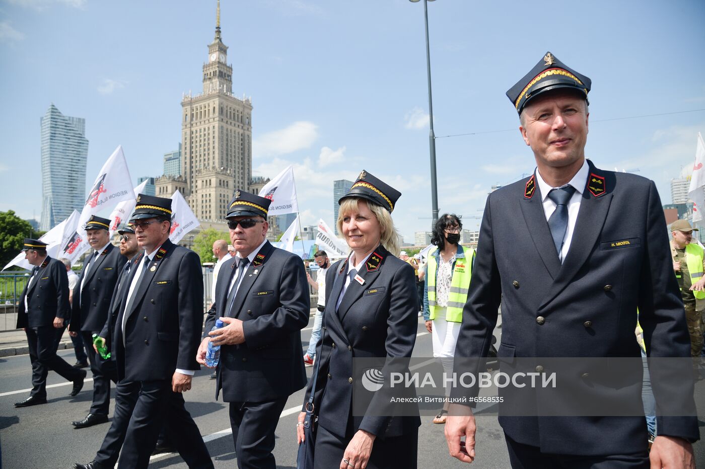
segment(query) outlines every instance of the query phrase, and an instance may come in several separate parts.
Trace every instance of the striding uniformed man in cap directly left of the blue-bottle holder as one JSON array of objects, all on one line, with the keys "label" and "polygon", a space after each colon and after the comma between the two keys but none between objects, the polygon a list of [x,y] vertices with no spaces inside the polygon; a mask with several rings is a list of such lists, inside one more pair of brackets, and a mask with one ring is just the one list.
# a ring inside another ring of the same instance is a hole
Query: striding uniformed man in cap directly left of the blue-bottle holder
[{"label": "striding uniformed man in cap directly left of the blue-bottle holder", "polygon": [[181,394],[191,389],[192,375],[199,368],[195,361],[203,317],[199,258],[168,239],[171,199],[140,194],[130,223],[144,251],[130,261],[122,284],[118,282],[117,315],[111,308],[107,330],[102,332],[110,335],[118,368],[113,421],[94,461],[74,467],[112,468],[122,447],[118,468],[147,468],[159,430],[166,424],[189,467],[212,468]]}]

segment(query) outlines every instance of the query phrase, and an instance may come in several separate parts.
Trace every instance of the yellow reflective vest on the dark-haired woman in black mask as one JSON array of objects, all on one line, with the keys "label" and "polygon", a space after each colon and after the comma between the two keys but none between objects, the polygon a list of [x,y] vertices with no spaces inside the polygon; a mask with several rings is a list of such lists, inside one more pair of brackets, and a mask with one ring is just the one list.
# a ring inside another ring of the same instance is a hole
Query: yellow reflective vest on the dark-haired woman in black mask
[{"label": "yellow reflective vest on the dark-haired woman in black mask", "polygon": [[[456,258],[453,268],[453,277],[450,279],[450,292],[448,293],[448,307],[446,308],[446,321],[451,323],[462,323],[462,308],[467,301],[467,291],[470,289],[470,277],[472,276],[472,261],[475,250],[460,246],[465,253],[465,258]],[[427,266],[426,284],[429,296],[429,319],[436,318],[436,273],[438,271],[438,261],[435,252],[429,253],[429,263]],[[439,256],[441,255],[438,253]]]}]

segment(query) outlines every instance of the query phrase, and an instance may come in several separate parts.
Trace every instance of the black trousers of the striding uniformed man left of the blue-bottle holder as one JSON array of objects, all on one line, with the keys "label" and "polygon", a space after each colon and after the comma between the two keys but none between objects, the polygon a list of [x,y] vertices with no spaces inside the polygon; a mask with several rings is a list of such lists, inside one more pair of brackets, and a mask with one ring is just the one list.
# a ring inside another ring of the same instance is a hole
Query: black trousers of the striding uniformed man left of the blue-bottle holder
[{"label": "black trousers of the striding uniformed man left of the blue-bottle holder", "polygon": [[147,468],[149,456],[164,427],[189,468],[213,468],[200,430],[186,410],[183,395],[171,380],[118,382],[113,422],[95,461],[120,468]]}]

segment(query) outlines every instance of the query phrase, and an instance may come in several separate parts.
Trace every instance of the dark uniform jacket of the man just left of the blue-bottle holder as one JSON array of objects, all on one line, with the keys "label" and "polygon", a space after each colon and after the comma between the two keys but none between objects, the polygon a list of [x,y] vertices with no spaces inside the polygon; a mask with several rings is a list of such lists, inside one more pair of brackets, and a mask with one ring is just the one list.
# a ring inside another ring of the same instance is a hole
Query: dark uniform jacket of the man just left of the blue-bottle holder
[{"label": "dark uniform jacket of the man just left of the blue-bottle holder", "polygon": [[[130,311],[126,296],[142,252],[133,258],[121,289],[112,351],[119,380],[171,380],[176,368],[199,370],[196,352],[203,323],[203,275],[198,255],[168,239],[161,245],[133,292]],[[128,315],[123,344],[123,315]]]}]

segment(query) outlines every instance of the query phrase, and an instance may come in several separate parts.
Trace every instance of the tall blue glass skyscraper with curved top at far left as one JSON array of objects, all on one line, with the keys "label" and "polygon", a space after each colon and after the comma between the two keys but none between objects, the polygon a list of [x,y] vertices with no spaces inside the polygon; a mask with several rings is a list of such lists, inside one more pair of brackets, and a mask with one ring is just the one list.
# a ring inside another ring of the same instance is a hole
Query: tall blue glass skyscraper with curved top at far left
[{"label": "tall blue glass skyscraper with curved top at far left", "polygon": [[42,221],[51,230],[85,205],[88,140],[83,118],[63,115],[49,106],[42,127]]}]

